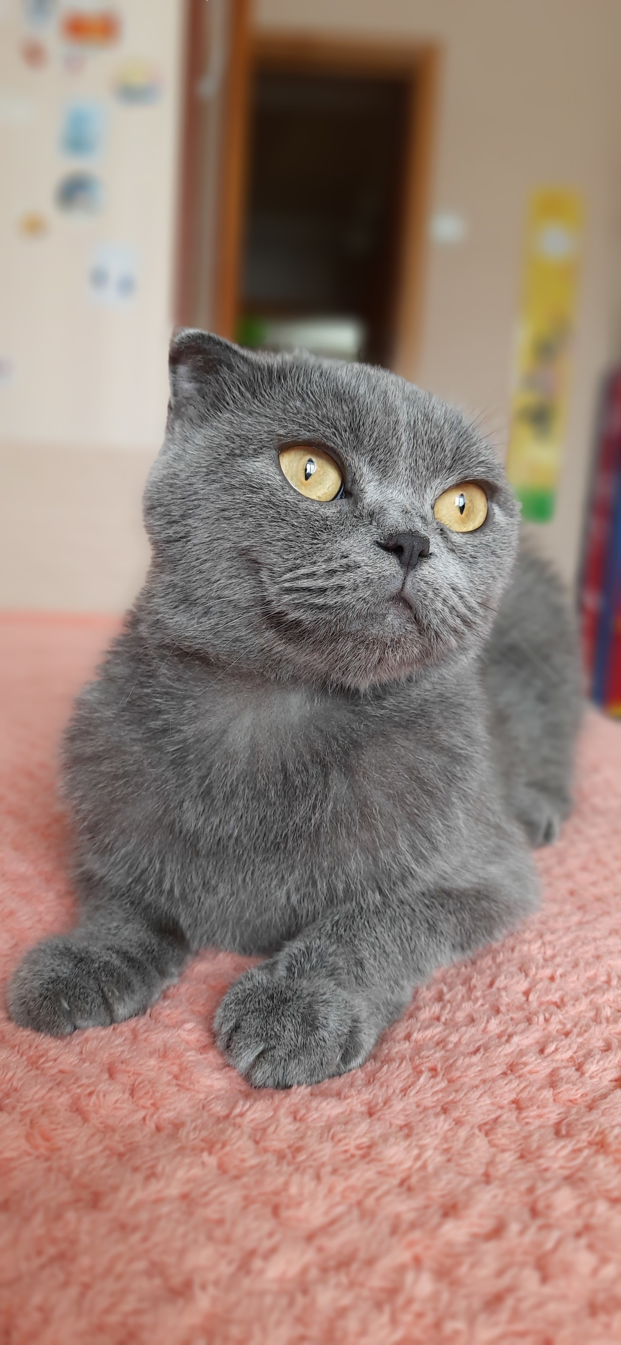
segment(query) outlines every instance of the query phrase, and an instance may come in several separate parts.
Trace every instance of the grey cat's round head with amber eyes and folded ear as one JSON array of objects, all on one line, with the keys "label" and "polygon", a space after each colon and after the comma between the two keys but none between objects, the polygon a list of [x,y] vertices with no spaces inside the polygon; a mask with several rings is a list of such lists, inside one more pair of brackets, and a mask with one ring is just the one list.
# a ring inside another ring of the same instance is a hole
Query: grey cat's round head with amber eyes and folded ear
[{"label": "grey cat's round head with amber eyes and folded ear", "polygon": [[144,603],[179,647],[349,689],[480,647],[518,504],[457,410],[382,369],[200,331],[169,363]]}]

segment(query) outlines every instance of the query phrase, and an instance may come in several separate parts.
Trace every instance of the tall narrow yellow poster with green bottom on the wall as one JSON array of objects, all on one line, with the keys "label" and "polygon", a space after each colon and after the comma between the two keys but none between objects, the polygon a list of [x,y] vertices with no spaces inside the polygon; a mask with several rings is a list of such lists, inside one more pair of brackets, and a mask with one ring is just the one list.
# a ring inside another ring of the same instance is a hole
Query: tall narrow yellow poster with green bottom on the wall
[{"label": "tall narrow yellow poster with green bottom on the wall", "polygon": [[523,518],[554,514],[567,425],[583,206],[575,191],[535,191],[528,210],[507,475]]}]

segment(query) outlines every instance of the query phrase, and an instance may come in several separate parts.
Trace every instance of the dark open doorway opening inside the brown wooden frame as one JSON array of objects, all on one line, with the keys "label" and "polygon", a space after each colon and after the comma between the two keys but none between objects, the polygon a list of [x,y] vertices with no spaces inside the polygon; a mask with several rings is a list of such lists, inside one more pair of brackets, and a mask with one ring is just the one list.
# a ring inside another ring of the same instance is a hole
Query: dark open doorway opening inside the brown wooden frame
[{"label": "dark open doorway opening inside the brown wooden frame", "polygon": [[242,342],[390,363],[407,118],[403,78],[255,66]]}]

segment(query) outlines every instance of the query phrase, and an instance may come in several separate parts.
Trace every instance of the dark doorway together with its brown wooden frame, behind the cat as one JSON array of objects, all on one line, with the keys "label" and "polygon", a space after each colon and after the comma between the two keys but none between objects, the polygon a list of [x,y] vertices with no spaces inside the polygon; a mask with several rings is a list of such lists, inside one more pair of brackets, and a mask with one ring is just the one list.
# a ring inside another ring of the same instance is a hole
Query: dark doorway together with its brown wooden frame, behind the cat
[{"label": "dark doorway together with its brown wooden frame, behind the cat", "polygon": [[[199,3],[204,23],[204,11],[216,11]],[[207,113],[211,140],[196,133],[198,98],[187,105],[185,145],[199,148],[185,155],[179,319],[196,321],[200,312],[200,324],[242,344],[305,346],[411,375],[436,51],[261,36],[247,0],[218,3],[229,5],[227,71],[220,106]],[[196,50],[194,32],[199,87]],[[210,229],[198,218],[207,174],[218,217]]]}]

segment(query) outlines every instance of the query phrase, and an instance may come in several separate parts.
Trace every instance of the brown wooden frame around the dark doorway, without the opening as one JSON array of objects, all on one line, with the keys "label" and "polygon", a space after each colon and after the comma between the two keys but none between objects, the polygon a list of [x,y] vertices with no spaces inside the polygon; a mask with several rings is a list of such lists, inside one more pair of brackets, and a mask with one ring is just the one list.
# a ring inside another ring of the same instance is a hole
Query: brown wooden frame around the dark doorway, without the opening
[{"label": "brown wooden frame around the dark doorway, without the opening", "polygon": [[[188,0],[191,7],[204,0]],[[423,274],[426,261],[427,213],[440,51],[430,43],[378,42],[351,38],[347,34],[257,32],[250,30],[250,0],[230,0],[231,42],[224,87],[224,143],[222,149],[220,199],[218,225],[218,258],[214,304],[214,328],[230,339],[238,317],[239,272],[242,262],[242,227],[247,190],[249,91],[253,71],[259,65],[290,70],[348,70],[359,75],[395,75],[407,81],[409,128],[406,144],[406,180],[402,202],[398,295],[395,311],[395,344],[392,367],[413,377],[419,348]],[[192,28],[192,24],[188,24]],[[191,51],[188,61],[191,61]],[[191,110],[191,109],[190,109]],[[187,104],[188,128],[188,104]],[[192,136],[185,132],[187,143]],[[183,211],[192,208],[192,184],[184,168],[181,192],[180,238],[190,239],[192,229]],[[190,206],[188,206],[190,203]],[[187,274],[187,269],[185,269]]]}]

